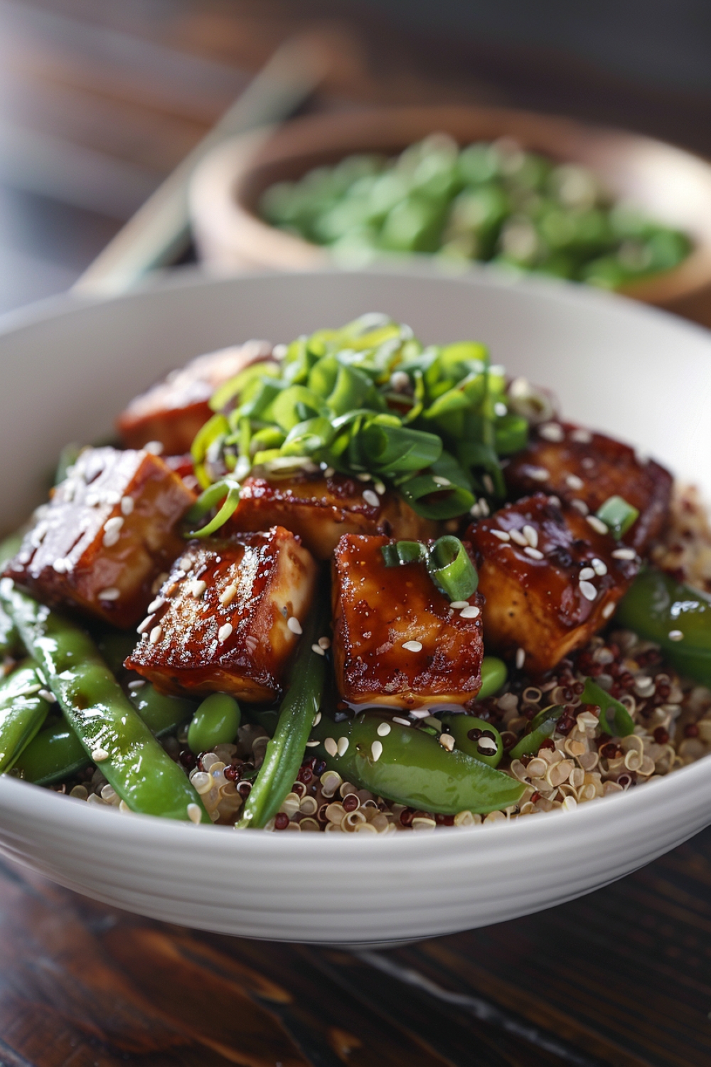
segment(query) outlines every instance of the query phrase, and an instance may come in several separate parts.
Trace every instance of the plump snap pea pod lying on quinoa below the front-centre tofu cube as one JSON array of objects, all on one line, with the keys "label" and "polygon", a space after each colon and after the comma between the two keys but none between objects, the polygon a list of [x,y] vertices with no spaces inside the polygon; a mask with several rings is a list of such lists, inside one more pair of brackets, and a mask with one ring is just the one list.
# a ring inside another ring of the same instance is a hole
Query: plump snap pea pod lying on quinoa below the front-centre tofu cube
[{"label": "plump snap pea pod lying on quinoa below the front-centre tofu cube", "polygon": [[[389,729],[383,732],[386,723]],[[457,749],[448,752],[422,730],[382,715],[361,713],[343,722],[323,716],[312,736],[322,743],[341,739],[342,755],[329,754],[323,744],[309,751],[342,778],[410,808],[443,815],[484,814],[516,803],[524,790],[503,771]]]}]

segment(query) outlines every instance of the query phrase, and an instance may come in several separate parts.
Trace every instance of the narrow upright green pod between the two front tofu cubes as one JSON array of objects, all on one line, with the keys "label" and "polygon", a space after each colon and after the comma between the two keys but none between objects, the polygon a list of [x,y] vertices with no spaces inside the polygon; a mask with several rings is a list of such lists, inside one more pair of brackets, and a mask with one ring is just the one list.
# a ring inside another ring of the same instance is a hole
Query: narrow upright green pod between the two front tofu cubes
[{"label": "narrow upright green pod between the two front tofu cubes", "polygon": [[326,684],[326,658],[311,647],[325,633],[325,619],[324,607],[320,605],[311,611],[304,627],[276,730],[238,823],[240,829],[269,823],[296,779]]}]

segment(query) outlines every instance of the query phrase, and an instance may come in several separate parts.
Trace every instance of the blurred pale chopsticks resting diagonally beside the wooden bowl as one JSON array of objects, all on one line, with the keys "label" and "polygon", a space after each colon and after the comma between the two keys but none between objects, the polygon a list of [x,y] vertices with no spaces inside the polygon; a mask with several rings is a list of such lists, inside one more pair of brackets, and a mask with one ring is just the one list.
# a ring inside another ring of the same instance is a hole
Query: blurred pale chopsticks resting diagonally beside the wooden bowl
[{"label": "blurred pale chopsticks resting diagonally beside the wooden bowl", "polygon": [[166,267],[190,244],[188,189],[200,160],[226,138],[269,127],[292,114],[325,76],[326,42],[304,34],[282,44],[244,92],[139,208],[71,287],[80,296],[115,296]]}]

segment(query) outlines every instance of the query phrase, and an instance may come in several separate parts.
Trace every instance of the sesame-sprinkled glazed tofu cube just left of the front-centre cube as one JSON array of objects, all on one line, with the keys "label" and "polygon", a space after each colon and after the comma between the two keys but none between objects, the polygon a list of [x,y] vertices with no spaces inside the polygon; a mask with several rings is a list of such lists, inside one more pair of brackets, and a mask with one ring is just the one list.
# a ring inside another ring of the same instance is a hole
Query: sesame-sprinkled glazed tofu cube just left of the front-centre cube
[{"label": "sesame-sprinkled glazed tofu cube just left of the front-centre cube", "polygon": [[163,692],[277,697],[311,605],[317,563],[289,530],[191,541],[126,666]]}]

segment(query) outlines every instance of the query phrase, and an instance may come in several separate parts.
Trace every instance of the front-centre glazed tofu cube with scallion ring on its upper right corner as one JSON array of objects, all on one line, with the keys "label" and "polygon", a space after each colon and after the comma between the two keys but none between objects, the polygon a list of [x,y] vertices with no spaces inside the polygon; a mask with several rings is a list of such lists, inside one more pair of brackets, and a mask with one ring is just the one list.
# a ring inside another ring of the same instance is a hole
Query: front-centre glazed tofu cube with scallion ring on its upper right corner
[{"label": "front-centre glazed tofu cube with scallion ring on its upper right corner", "polygon": [[469,704],[481,687],[482,598],[452,608],[424,563],[386,567],[386,537],[346,535],[334,558],[336,682],[350,704]]}]

